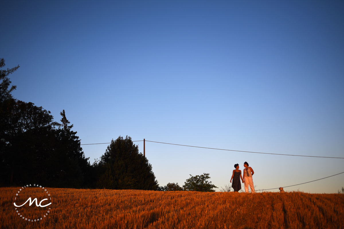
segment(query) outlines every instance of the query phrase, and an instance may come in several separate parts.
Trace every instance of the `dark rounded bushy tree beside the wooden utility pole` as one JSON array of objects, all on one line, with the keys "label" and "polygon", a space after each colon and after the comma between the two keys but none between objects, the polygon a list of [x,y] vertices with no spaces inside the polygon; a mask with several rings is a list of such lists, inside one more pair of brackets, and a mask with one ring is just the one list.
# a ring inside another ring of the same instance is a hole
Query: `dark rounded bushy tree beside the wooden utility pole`
[{"label": "dark rounded bushy tree beside the wooden utility pole", "polygon": [[100,161],[93,165],[97,170],[97,188],[156,190],[158,187],[151,164],[139,153],[131,137],[112,139]]}]

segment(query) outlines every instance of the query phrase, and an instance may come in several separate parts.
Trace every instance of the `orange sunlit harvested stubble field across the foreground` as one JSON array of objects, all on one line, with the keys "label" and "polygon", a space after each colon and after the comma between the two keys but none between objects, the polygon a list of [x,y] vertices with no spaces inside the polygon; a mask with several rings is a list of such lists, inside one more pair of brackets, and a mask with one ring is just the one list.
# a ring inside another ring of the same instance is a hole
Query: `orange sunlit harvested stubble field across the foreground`
[{"label": "orange sunlit harvested stubble field across the foreground", "polygon": [[344,228],[343,194],[49,189],[49,216],[28,222],[17,190],[0,188],[0,228]]}]

